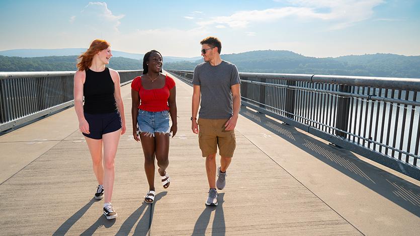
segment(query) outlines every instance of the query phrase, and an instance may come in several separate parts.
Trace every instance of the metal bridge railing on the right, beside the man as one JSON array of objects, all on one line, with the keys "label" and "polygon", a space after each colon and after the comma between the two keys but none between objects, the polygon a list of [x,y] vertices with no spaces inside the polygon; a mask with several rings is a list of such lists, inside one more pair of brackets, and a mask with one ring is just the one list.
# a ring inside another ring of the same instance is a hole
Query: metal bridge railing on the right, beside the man
[{"label": "metal bridge railing on the right, beside the man", "polygon": [[[193,71],[169,71],[191,84]],[[420,79],[239,76],[242,105],[420,179]]]}]

